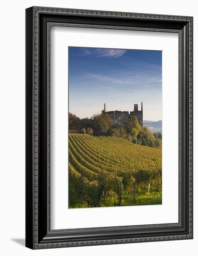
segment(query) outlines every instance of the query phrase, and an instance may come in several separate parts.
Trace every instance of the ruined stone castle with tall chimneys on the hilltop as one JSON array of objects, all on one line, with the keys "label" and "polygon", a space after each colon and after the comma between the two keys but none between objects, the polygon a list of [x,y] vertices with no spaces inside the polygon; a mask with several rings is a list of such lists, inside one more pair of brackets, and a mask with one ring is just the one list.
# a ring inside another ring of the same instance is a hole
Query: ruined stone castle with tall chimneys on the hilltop
[{"label": "ruined stone castle with tall chimneys on the hilltop", "polygon": [[141,110],[138,110],[138,104],[134,104],[133,111],[106,111],[106,103],[104,104],[104,110],[102,113],[108,114],[112,119],[112,124],[116,124],[119,126],[125,126],[126,122],[132,119],[133,116],[138,118],[139,124],[143,127],[143,106],[141,103]]}]

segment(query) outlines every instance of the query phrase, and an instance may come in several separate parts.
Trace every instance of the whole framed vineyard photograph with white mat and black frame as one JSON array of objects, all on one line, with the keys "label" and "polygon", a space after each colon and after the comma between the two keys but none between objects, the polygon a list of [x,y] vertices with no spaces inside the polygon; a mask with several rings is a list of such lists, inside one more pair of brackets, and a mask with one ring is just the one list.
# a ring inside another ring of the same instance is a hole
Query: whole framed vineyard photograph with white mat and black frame
[{"label": "whole framed vineyard photograph with white mat and black frame", "polygon": [[26,9],[26,247],[193,238],[192,26]]}]

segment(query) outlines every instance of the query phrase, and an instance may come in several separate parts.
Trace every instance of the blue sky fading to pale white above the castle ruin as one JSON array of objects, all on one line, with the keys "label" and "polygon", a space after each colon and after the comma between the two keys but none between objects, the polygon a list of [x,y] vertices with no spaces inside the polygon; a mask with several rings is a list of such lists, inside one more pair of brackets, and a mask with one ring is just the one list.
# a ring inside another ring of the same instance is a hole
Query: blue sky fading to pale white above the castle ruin
[{"label": "blue sky fading to pale white above the castle ruin", "polygon": [[69,47],[69,112],[80,118],[141,108],[143,119],[162,119],[162,52]]}]

